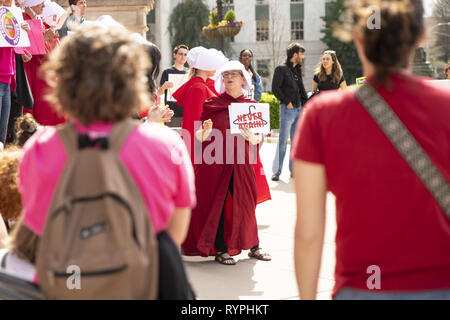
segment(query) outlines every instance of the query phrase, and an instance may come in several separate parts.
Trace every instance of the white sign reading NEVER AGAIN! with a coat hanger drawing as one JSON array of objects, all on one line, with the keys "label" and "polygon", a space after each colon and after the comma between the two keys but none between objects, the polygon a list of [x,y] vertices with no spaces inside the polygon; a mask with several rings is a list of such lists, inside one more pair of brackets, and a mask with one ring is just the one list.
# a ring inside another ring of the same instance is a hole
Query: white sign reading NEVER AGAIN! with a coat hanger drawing
[{"label": "white sign reading NEVER AGAIN! with a coat hanger drawing", "polygon": [[232,103],[229,107],[232,134],[249,128],[253,133],[270,132],[270,107],[268,103]]}]

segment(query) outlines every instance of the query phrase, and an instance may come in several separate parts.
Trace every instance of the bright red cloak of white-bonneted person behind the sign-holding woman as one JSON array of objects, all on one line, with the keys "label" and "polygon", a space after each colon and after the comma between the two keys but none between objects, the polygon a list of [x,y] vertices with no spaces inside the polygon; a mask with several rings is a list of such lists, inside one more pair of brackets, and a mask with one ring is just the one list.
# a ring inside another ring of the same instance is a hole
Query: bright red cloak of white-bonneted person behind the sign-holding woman
[{"label": "bright red cloak of white-bonneted person behind the sign-holding woman", "polygon": [[200,120],[205,100],[214,96],[214,92],[209,89],[206,81],[200,77],[193,77],[173,94],[177,104],[184,108],[181,128],[187,132],[182,132],[182,137],[191,155],[192,163],[194,163],[195,131],[200,127],[198,124],[195,125],[195,121]]}]

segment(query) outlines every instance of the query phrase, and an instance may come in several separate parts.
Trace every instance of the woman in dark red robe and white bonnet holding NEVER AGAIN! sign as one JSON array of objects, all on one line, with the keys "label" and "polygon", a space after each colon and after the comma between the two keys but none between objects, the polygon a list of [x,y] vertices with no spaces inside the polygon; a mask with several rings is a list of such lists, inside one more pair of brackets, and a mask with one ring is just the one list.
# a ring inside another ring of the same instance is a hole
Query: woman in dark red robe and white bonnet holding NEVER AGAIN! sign
[{"label": "woman in dark red robe and white bonnet holding NEVER AGAIN! sign", "polygon": [[203,106],[203,123],[195,134],[202,142],[202,162],[194,165],[197,207],[182,244],[184,255],[214,255],[221,264],[235,265],[232,256],[250,249],[250,257],[271,260],[259,247],[255,215],[256,204],[262,199],[258,193],[266,195],[264,200],[270,198],[267,180],[265,185],[261,179],[258,182],[257,173],[262,171],[255,170],[263,137],[250,129],[242,129],[237,135],[229,130],[228,106],[256,103],[242,91],[250,83],[244,66],[230,61],[216,74],[216,90],[221,94]]}]

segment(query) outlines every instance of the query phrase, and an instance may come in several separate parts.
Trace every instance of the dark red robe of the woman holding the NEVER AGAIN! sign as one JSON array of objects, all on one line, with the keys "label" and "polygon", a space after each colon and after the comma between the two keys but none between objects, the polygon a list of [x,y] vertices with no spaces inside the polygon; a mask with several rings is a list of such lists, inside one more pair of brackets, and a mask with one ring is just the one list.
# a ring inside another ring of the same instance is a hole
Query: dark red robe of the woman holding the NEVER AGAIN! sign
[{"label": "dark red robe of the woman holding the NEVER AGAIN! sign", "polygon": [[[222,215],[225,208],[224,237],[230,255],[237,255],[241,250],[250,249],[259,244],[258,229],[256,223],[255,209],[258,199],[256,168],[262,168],[250,164],[251,154],[249,143],[245,144],[245,163],[237,163],[237,146],[244,138],[241,135],[232,135],[236,141],[233,145],[226,145],[226,135],[230,135],[228,106],[233,102],[254,102],[244,95],[235,99],[227,93],[218,97],[208,99],[203,106],[201,120],[211,119],[213,128],[220,130],[223,137],[222,155],[226,157],[230,148],[234,148],[235,161],[231,164],[223,159],[223,164],[195,164],[197,207],[192,211],[191,223],[186,240],[182,244],[182,250],[188,256],[209,256],[215,254],[214,241]],[[229,139],[232,141],[232,139]],[[202,151],[215,142],[215,137],[202,144]],[[211,150],[210,146],[207,150]],[[258,147],[259,148],[259,147]],[[203,154],[203,153],[202,153]],[[211,153],[217,154],[217,150]],[[258,156],[259,159],[259,156]],[[204,161],[204,160],[203,160]],[[258,170],[261,173],[261,170]],[[233,175],[233,197],[228,191],[231,176]],[[264,175],[265,186],[267,181]],[[258,179],[261,181],[262,179]],[[261,184],[261,199],[268,200],[270,191]]]}]

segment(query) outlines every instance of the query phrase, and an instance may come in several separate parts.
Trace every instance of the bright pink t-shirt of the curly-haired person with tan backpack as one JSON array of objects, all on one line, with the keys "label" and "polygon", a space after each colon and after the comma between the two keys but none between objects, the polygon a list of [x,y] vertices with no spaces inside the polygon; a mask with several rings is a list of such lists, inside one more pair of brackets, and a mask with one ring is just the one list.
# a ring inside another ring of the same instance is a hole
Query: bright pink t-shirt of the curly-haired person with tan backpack
[{"label": "bright pink t-shirt of the curly-haired person with tan backpack", "polygon": [[[112,124],[76,125],[80,133],[107,135]],[[36,132],[19,166],[24,224],[41,235],[54,190],[67,161],[56,129]],[[194,173],[183,140],[160,124],[141,124],[127,138],[120,159],[141,190],[155,232],[166,229],[175,208],[196,204]]]}]

